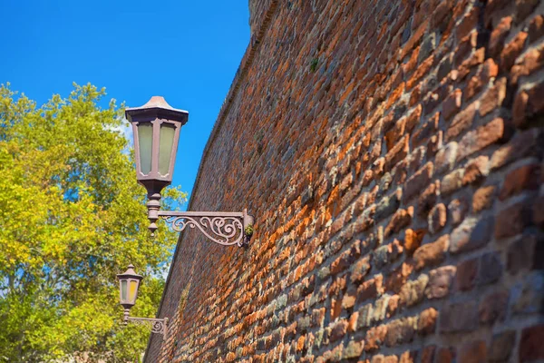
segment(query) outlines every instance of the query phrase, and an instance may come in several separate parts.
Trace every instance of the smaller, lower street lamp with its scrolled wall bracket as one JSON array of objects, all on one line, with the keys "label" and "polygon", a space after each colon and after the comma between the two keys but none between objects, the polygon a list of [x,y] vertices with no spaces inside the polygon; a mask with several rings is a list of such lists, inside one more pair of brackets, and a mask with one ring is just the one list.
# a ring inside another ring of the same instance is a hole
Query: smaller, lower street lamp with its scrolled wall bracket
[{"label": "smaller, lower street lamp with its scrolled wall bracket", "polygon": [[121,306],[124,308],[124,323],[131,321],[134,324],[147,325],[151,327],[152,333],[162,334],[162,338],[168,338],[168,318],[151,319],[151,318],[131,318],[131,308],[136,303],[138,298],[138,289],[143,276],[134,271],[134,266],[129,265],[129,268],[117,275],[119,280],[119,299]]}]

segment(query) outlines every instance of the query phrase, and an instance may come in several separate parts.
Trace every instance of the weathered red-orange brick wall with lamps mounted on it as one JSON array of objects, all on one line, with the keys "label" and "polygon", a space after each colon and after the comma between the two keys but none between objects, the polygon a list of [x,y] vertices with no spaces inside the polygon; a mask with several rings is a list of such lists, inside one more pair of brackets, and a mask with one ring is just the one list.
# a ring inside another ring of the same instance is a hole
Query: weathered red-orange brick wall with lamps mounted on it
[{"label": "weathered red-orange brick wall with lamps mounted on it", "polygon": [[544,2],[251,3],[147,361],[544,359]]}]

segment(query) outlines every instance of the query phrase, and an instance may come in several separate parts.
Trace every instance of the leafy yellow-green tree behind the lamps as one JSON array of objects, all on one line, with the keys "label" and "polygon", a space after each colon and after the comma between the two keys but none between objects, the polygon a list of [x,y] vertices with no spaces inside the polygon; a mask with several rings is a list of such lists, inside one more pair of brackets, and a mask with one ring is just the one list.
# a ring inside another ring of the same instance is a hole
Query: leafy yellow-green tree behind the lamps
[{"label": "leafy yellow-green tree behind the lamps", "polygon": [[[145,276],[134,315],[154,316],[176,236],[147,231],[145,190],[104,90],[74,84],[37,107],[0,86],[0,362],[134,361],[149,331],[121,324],[115,275]],[[166,207],[183,201],[171,188]]]}]

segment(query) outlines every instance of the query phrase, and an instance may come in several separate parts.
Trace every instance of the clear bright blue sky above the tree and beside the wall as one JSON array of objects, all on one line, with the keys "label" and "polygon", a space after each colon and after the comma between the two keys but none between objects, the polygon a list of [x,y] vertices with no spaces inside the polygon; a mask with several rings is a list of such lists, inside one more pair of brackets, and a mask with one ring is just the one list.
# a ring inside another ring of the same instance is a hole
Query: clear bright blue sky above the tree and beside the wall
[{"label": "clear bright blue sky above the tree and beside the wall", "polygon": [[191,191],[200,157],[248,46],[248,1],[0,1],[0,83],[38,104],[72,83],[141,106],[162,95],[189,111],[173,184]]}]

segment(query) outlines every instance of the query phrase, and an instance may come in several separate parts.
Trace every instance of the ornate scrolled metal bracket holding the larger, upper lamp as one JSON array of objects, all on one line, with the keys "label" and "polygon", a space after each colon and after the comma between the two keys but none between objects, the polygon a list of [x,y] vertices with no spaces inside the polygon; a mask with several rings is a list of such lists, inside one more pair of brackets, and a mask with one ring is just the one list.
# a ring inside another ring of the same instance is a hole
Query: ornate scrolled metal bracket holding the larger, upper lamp
[{"label": "ornate scrolled metal bracket holding the larger, upper lamp", "polygon": [[159,211],[159,217],[174,231],[187,227],[204,233],[223,246],[247,246],[253,231],[253,217],[248,211]]}]

